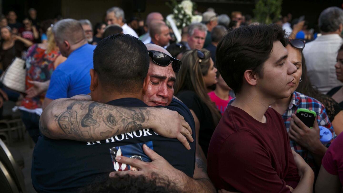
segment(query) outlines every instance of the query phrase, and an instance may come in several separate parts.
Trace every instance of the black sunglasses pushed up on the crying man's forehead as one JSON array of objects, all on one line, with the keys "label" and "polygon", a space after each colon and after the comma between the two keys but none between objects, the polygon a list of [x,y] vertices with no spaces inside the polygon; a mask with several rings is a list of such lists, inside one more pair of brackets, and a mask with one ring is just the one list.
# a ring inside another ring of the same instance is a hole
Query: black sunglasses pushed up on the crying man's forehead
[{"label": "black sunglasses pushed up on the crying man's forehead", "polygon": [[170,62],[172,61],[173,63],[171,63],[171,67],[173,67],[174,72],[176,73],[179,72],[181,68],[180,60],[170,57],[166,55],[165,53],[158,52],[156,50],[148,50],[148,53],[152,61],[160,66],[168,66]]}]

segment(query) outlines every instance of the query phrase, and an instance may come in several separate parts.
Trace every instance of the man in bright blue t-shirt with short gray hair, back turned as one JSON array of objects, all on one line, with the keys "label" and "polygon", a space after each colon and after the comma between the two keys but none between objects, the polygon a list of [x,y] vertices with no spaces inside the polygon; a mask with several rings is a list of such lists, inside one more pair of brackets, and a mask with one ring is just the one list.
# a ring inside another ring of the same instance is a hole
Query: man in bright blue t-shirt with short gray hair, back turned
[{"label": "man in bright blue t-shirt with short gray hair, back turned", "polygon": [[74,19],[63,19],[52,28],[56,45],[67,60],[52,73],[43,109],[53,100],[90,93],[94,45],[89,45],[82,25]]}]

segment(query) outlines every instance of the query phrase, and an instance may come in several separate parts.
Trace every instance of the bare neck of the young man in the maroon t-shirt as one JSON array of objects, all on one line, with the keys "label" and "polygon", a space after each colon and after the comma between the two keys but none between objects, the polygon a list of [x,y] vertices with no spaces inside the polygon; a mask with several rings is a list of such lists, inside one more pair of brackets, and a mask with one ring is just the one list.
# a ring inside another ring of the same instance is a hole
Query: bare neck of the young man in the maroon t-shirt
[{"label": "bare neck of the young man in the maroon t-shirt", "polygon": [[241,90],[245,90],[245,92],[238,93],[236,100],[231,105],[245,111],[257,121],[265,123],[267,118],[264,117],[264,113],[275,100],[254,89],[242,88]]}]

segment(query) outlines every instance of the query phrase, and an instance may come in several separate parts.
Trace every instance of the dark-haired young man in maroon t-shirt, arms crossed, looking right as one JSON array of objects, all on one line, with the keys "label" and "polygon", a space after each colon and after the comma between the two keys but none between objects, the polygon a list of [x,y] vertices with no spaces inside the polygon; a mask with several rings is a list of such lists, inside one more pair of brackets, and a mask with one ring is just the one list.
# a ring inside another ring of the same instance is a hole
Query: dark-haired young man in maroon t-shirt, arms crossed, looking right
[{"label": "dark-haired young man in maroon t-shirt, arms crossed, looking right", "polygon": [[228,32],[217,46],[218,70],[236,93],[207,156],[217,189],[312,192],[313,171],[292,154],[283,120],[269,107],[291,94],[297,68],[287,59],[286,43],[282,27],[260,24]]}]

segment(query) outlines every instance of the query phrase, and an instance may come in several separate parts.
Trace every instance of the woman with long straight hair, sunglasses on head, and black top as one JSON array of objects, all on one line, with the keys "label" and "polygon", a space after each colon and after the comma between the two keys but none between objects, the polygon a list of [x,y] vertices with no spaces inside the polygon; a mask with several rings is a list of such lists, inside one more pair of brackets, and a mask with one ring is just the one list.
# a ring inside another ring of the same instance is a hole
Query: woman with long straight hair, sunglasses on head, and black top
[{"label": "woman with long straight hair, sunglasses on head, and black top", "polygon": [[221,114],[207,94],[207,87],[217,83],[209,50],[190,50],[181,58],[174,93],[190,109],[196,125],[196,141],[207,156],[209,143]]}]

